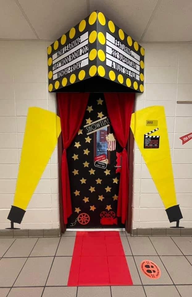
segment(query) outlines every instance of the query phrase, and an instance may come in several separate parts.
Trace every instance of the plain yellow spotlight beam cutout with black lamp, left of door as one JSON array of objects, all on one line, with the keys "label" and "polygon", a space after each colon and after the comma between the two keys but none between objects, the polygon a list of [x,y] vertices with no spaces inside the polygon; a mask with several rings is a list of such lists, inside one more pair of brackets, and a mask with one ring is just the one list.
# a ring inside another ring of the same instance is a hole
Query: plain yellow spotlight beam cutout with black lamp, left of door
[{"label": "plain yellow spotlight beam cutout with black lamp, left of door", "polygon": [[21,223],[61,133],[60,118],[39,107],[28,109],[14,203],[8,219]]}]

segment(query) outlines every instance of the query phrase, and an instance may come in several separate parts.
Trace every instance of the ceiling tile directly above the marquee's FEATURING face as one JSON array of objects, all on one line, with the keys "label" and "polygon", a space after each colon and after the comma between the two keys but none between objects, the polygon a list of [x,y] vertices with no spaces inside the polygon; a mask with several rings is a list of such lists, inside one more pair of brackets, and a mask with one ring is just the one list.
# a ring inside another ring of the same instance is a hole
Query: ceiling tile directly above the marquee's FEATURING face
[{"label": "ceiling tile directly above the marquee's FEATURING face", "polygon": [[157,0],[90,0],[90,11],[102,11],[118,27],[139,41]]}]

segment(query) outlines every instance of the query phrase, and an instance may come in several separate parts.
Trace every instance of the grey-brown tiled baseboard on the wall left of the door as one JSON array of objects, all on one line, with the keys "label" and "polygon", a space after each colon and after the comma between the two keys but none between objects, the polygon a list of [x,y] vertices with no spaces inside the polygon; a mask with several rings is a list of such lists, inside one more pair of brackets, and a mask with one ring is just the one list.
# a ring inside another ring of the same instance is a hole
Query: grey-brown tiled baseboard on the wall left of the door
[{"label": "grey-brown tiled baseboard on the wall left of the door", "polygon": [[2,237],[58,237],[61,236],[60,229],[19,229],[0,230],[0,238]]}]

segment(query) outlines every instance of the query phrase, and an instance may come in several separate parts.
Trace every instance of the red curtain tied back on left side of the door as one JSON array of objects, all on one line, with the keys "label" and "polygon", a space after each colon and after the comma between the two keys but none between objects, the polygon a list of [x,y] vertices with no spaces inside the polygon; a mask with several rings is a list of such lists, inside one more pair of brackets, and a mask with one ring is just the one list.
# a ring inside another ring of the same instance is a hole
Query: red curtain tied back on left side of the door
[{"label": "red curtain tied back on left side of the door", "polygon": [[72,214],[66,149],[75,138],[86,111],[89,93],[57,93],[64,150],[61,161],[64,223]]}]

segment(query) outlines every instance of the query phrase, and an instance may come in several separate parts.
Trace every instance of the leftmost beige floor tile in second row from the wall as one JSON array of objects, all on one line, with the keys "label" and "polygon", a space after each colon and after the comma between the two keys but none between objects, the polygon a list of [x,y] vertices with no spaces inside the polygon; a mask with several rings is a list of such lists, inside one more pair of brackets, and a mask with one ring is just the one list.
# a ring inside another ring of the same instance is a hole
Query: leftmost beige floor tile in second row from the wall
[{"label": "leftmost beige floor tile in second row from the wall", "polygon": [[0,260],[0,286],[12,286],[22,269],[26,258],[2,258]]}]

